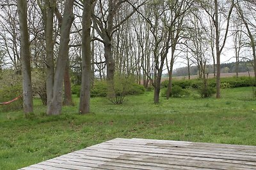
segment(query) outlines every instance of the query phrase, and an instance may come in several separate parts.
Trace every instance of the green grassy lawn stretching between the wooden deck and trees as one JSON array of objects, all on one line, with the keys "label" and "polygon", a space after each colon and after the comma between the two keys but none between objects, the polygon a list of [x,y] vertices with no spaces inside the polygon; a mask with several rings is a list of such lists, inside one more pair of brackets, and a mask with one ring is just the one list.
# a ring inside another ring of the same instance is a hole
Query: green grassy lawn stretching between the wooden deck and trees
[{"label": "green grassy lawn stretching between the wooden deck and trees", "polygon": [[256,145],[256,100],[252,87],[223,89],[222,98],[161,98],[153,93],[129,96],[122,105],[92,98],[92,113],[78,115],[76,106],[47,117],[35,100],[35,115],[0,113],[0,169],[18,169],[113,138],[148,138]]}]

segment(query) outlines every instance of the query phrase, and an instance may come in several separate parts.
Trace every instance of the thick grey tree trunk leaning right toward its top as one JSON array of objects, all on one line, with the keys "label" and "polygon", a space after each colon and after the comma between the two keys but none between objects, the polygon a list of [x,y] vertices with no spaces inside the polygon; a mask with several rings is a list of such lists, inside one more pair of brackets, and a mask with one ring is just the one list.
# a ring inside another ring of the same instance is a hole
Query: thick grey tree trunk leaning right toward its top
[{"label": "thick grey tree trunk leaning right toward its top", "polygon": [[68,59],[70,28],[74,20],[73,5],[74,0],[65,1],[63,21],[61,25],[60,48],[54,76],[53,95],[50,101],[49,109],[47,110],[47,115],[60,115],[61,113],[63,78]]}]

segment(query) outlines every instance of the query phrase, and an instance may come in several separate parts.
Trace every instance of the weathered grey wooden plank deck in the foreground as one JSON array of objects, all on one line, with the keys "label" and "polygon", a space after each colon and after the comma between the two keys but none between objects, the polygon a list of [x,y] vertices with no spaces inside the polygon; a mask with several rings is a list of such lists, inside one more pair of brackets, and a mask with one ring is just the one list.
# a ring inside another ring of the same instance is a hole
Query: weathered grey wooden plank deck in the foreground
[{"label": "weathered grey wooden plank deck in the foreground", "polygon": [[256,169],[256,146],[116,138],[22,169]]}]

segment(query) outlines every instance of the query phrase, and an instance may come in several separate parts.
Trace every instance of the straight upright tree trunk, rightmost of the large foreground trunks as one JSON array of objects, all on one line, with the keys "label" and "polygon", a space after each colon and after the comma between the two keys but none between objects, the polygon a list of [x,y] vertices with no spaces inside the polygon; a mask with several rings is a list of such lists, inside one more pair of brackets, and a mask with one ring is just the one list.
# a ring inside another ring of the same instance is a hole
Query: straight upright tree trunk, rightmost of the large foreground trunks
[{"label": "straight upright tree trunk, rightmost of the large foreground trunks", "polygon": [[91,86],[91,10],[92,0],[84,0],[83,34],[82,34],[82,84],[80,92],[79,113],[90,113]]}]

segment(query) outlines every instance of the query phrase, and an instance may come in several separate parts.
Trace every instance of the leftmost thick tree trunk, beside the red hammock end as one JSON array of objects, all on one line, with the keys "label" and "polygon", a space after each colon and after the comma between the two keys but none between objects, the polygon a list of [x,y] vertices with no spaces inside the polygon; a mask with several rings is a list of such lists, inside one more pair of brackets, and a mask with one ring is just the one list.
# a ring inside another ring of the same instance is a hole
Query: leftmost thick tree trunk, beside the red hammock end
[{"label": "leftmost thick tree trunk, beside the red hammock end", "polygon": [[22,88],[24,113],[33,113],[29,34],[27,24],[27,1],[17,1],[20,25],[20,57],[22,63]]}]

